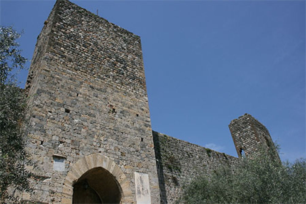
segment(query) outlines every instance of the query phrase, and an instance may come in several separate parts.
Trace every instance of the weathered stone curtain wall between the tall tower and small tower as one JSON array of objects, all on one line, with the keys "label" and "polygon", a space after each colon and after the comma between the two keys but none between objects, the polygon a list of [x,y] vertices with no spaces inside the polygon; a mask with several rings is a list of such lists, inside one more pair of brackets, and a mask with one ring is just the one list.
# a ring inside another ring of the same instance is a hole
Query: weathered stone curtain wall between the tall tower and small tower
[{"label": "weathered stone curtain wall between the tall tower and small tower", "polygon": [[210,175],[223,165],[234,167],[239,159],[153,131],[161,203],[175,203],[182,187],[198,176]]}]

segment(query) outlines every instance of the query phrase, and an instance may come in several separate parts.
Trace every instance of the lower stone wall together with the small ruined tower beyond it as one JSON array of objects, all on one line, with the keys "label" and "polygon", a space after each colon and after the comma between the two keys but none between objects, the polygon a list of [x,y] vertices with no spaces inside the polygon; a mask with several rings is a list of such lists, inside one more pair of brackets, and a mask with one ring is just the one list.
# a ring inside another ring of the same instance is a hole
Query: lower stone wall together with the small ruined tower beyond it
[{"label": "lower stone wall together with the small ruined tower beyond it", "polygon": [[[229,124],[238,157],[256,153],[260,147],[274,148],[267,128],[249,114]],[[259,140],[257,139],[259,138]],[[175,203],[185,184],[201,175],[228,165],[235,168],[240,159],[153,131],[161,203]],[[263,146],[261,146],[263,145]],[[279,159],[276,152],[276,159]]]}]

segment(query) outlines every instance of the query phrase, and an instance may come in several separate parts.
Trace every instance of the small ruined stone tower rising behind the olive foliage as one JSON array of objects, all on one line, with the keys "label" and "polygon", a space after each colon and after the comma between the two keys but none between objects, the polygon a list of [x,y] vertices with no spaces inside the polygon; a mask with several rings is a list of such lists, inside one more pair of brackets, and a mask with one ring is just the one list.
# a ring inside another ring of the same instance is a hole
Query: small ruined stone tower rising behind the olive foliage
[{"label": "small ruined stone tower rising behind the olive foliage", "polygon": [[245,113],[229,124],[238,157],[256,153],[262,145],[274,148],[268,129],[250,114]]}]

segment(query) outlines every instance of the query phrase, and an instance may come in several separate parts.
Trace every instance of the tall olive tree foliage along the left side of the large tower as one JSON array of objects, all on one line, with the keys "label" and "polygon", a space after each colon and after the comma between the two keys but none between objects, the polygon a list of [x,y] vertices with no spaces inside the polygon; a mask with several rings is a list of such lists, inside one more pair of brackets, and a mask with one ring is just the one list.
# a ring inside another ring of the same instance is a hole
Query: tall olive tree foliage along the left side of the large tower
[{"label": "tall olive tree foliage along the left side of the large tower", "polygon": [[[16,43],[20,37],[11,27],[0,27],[0,202],[17,202],[12,193],[30,190],[28,173],[24,169],[26,154],[22,123],[25,96],[11,75],[13,69],[23,69],[26,59],[20,55]],[[8,189],[12,192],[9,193]]]}]

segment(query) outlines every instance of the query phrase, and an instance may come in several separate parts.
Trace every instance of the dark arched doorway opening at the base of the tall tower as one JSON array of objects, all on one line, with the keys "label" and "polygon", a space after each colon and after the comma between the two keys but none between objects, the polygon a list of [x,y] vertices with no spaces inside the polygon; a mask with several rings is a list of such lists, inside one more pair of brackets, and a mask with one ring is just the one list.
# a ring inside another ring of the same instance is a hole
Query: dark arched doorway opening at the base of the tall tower
[{"label": "dark arched doorway opening at the base of the tall tower", "polygon": [[121,188],[115,177],[102,167],[84,173],[73,185],[72,203],[120,203]]}]

